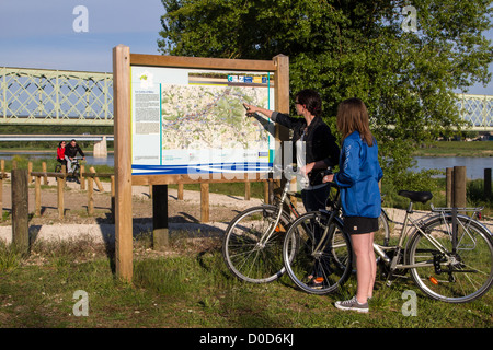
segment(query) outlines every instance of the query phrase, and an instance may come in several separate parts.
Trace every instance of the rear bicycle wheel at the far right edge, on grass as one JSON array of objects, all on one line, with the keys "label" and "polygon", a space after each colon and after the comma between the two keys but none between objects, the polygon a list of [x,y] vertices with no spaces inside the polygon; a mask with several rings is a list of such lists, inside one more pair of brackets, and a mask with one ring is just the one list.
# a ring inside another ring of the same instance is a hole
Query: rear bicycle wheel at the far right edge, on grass
[{"label": "rear bicycle wheel at the far right edge, on grass", "polygon": [[417,287],[429,298],[448,303],[473,301],[486,293],[493,281],[490,233],[470,218],[458,217],[457,220],[456,252],[452,252],[450,215],[433,218],[422,228],[446,248],[446,253],[440,253],[417,230],[408,250],[408,264],[423,265],[410,269]]}]

